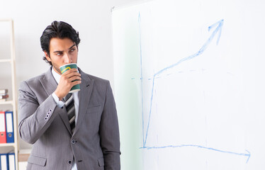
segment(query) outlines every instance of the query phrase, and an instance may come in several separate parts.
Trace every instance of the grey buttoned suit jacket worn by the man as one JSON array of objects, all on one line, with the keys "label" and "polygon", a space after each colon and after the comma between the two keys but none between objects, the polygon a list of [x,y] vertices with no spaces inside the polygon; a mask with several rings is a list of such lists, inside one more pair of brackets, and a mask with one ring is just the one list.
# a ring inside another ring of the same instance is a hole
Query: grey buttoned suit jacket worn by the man
[{"label": "grey buttoned suit jacket worn by the man", "polygon": [[79,115],[72,134],[65,106],[51,94],[57,88],[52,67],[19,88],[19,135],[33,144],[27,169],[120,169],[120,139],[109,81],[85,74],[79,91]]}]

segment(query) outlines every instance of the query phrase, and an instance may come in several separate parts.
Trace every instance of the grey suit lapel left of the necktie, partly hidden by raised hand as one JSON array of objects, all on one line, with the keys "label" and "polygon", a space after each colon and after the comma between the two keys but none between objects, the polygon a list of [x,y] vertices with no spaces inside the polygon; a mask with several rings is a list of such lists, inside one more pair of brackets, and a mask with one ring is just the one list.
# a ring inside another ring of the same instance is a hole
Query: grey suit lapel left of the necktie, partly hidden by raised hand
[{"label": "grey suit lapel left of the necktie, partly hidden by raised hand", "polygon": [[[56,90],[58,84],[52,75],[52,67],[45,73],[43,79],[40,79],[40,83],[43,85],[43,88],[47,93],[47,97]],[[72,134],[65,106],[64,111],[60,112],[59,115],[69,133]]]}]

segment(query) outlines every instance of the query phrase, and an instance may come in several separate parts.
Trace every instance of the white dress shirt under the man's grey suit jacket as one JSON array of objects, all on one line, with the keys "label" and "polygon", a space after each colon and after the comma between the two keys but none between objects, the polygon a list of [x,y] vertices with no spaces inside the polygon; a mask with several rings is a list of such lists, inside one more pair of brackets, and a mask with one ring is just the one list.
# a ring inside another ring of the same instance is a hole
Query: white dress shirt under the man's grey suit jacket
[{"label": "white dress shirt under the man's grey suit jacket", "polygon": [[[61,75],[58,74],[57,72],[55,72],[55,69],[53,69],[52,67],[52,75],[55,78],[57,84],[59,84]],[[77,125],[77,117],[78,117],[78,109],[79,109],[79,91],[74,92],[73,94],[74,97],[74,109],[75,109],[75,118],[74,118],[74,122]],[[59,101],[58,96],[56,96],[55,92],[52,93],[52,97],[55,99],[55,102],[57,103],[57,106],[59,106],[60,108],[62,108],[62,106],[64,106],[64,102],[63,101]],[[74,162],[72,163],[72,170],[77,170],[77,164]]]}]

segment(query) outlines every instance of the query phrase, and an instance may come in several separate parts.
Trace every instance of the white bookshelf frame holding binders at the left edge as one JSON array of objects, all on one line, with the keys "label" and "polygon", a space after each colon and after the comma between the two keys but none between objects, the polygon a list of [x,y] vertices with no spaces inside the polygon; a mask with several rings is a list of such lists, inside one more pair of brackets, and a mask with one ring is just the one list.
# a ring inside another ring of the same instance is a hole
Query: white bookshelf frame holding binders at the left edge
[{"label": "white bookshelf frame holding binders at the left edge", "polygon": [[[11,64],[11,83],[12,83],[12,99],[9,101],[0,102],[0,110],[4,105],[11,105],[13,111],[13,132],[14,132],[14,142],[0,144],[0,150],[4,150],[7,147],[12,147],[15,153],[16,159],[16,170],[18,170],[18,120],[17,120],[17,91],[16,91],[16,58],[15,58],[15,38],[13,29],[13,20],[11,18],[1,19],[0,22],[9,24],[10,27],[10,56],[6,56],[4,59],[0,59],[0,63]],[[1,53],[0,53],[1,54]],[[0,75],[1,77],[1,75]],[[0,86],[0,89],[1,88]]]}]

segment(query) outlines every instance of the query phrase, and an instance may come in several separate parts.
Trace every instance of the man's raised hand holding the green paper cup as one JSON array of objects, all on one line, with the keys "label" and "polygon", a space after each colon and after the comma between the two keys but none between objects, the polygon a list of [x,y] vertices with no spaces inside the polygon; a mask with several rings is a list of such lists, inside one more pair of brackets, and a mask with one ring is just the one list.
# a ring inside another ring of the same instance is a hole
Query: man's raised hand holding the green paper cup
[{"label": "man's raised hand holding the green paper cup", "polygon": [[[74,81],[77,80],[77,81]],[[61,75],[60,82],[55,90],[56,96],[62,101],[62,98],[67,96],[72,86],[81,84],[81,74],[77,69],[69,69]]]}]

